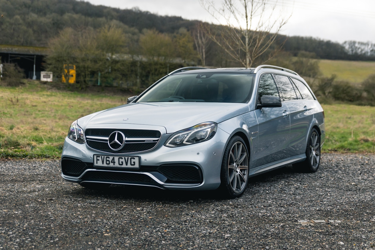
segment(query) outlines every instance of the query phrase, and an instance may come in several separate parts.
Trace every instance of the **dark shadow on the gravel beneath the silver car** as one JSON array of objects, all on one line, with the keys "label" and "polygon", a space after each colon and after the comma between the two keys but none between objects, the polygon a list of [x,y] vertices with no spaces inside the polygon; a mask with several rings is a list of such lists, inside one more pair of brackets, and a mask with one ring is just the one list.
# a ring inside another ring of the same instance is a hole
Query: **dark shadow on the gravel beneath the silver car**
[{"label": "dark shadow on the gravel beneath the silver car", "polygon": [[[272,183],[280,180],[287,180],[300,175],[292,166],[276,169],[255,177],[249,178],[246,193],[251,193],[252,186],[262,186],[263,183]],[[228,199],[220,195],[217,190],[208,191],[183,191],[183,190],[162,190],[156,187],[144,186],[123,186],[112,185],[106,189],[92,190],[77,185],[69,195],[73,196],[97,196],[107,199],[139,199],[149,201],[194,201],[204,200],[224,200]]]}]

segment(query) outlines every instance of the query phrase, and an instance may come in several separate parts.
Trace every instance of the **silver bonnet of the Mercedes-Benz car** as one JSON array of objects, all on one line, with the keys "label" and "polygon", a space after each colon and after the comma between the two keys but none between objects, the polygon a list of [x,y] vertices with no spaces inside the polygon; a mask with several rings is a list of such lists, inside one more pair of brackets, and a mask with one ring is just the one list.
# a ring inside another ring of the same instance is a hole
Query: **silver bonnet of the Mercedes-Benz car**
[{"label": "silver bonnet of the Mercedes-Benz car", "polygon": [[207,121],[220,123],[248,111],[247,103],[130,103],[80,118],[78,124],[83,129],[119,123],[162,126],[166,133],[174,133]]}]

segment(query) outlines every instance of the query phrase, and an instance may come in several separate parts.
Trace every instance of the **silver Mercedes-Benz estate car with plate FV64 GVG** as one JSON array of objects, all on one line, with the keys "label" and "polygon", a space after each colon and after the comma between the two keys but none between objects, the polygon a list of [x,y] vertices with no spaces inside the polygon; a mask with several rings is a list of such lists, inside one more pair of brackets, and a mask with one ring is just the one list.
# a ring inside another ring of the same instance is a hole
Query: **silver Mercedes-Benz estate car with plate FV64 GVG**
[{"label": "silver Mercedes-Benz estate car with plate FV64 GVG", "polygon": [[317,171],[324,138],[323,108],[296,72],[185,67],[126,105],[74,121],[62,177],[93,189],[218,189],[236,198],[254,175],[291,164]]}]

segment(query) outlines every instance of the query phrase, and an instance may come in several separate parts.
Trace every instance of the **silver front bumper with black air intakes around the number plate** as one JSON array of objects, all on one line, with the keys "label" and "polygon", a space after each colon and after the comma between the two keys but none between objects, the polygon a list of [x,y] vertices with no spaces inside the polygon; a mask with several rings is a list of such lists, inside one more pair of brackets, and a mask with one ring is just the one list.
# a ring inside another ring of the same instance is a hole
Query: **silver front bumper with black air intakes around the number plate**
[{"label": "silver front bumper with black air intakes around the number plate", "polygon": [[163,134],[151,151],[121,154],[139,157],[139,169],[95,167],[94,155],[114,154],[99,152],[66,138],[62,177],[82,184],[108,183],[173,190],[213,190],[219,187],[223,151],[229,134],[218,128],[208,141],[175,148],[163,145],[169,136]]}]

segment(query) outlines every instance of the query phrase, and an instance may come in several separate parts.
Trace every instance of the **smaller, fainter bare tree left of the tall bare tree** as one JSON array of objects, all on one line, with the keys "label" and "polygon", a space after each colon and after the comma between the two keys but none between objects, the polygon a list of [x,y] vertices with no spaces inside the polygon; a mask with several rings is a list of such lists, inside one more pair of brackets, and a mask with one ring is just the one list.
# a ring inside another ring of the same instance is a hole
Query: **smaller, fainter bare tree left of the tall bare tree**
[{"label": "smaller, fainter bare tree left of the tall bare tree", "polygon": [[198,52],[199,59],[202,61],[202,66],[206,66],[206,54],[207,48],[210,45],[210,38],[207,36],[205,30],[207,30],[207,23],[198,22],[193,29],[193,38]]}]

